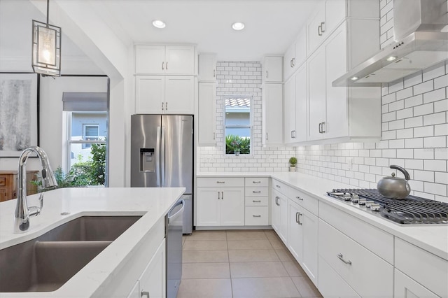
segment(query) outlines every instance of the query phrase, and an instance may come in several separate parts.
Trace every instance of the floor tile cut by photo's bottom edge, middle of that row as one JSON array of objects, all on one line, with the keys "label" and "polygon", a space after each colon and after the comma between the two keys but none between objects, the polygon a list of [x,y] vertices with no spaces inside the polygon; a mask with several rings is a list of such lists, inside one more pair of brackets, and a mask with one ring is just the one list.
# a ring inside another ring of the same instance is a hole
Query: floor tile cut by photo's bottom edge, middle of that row
[{"label": "floor tile cut by photo's bottom edge, middle of that row", "polygon": [[232,278],[233,297],[300,297],[290,277]]}]

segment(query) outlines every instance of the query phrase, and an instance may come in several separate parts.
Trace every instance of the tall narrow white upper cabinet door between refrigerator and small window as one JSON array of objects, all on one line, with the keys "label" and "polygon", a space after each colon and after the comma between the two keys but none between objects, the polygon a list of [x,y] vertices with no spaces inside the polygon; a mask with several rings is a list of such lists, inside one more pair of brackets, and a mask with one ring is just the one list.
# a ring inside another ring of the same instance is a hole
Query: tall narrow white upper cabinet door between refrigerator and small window
[{"label": "tall narrow white upper cabinet door between refrigerator and small window", "polygon": [[199,83],[198,109],[198,143],[216,146],[216,83]]}]

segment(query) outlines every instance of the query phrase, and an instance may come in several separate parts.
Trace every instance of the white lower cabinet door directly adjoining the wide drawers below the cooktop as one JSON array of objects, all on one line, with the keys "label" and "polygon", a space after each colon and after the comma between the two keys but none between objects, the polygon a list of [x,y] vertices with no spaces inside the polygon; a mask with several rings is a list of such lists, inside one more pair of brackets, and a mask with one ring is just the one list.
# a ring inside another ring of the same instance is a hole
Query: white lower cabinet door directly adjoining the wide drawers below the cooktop
[{"label": "white lower cabinet door directly adjoining the wide drawers below the cooktop", "polygon": [[299,217],[302,223],[302,268],[311,281],[317,285],[318,274],[318,218],[316,215],[301,208]]}]

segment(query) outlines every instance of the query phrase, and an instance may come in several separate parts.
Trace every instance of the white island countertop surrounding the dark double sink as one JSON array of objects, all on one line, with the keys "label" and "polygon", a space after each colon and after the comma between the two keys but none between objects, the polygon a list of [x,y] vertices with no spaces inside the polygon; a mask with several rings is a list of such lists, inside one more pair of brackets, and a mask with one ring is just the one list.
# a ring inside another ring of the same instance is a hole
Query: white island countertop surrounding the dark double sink
[{"label": "white island countertop surrounding the dark double sink", "polygon": [[[30,218],[25,234],[13,234],[16,199],[0,203],[0,249],[34,239],[50,229],[84,215],[143,215],[126,232],[54,292],[34,292],[32,297],[90,297],[132,252],[139,241],[181,197],[185,188],[80,187],[45,192],[41,215]],[[62,199],[64,198],[64,199]],[[28,206],[38,205],[38,194]],[[61,215],[69,206],[69,215]],[[0,293],[0,297],[30,297],[30,293]]]}]

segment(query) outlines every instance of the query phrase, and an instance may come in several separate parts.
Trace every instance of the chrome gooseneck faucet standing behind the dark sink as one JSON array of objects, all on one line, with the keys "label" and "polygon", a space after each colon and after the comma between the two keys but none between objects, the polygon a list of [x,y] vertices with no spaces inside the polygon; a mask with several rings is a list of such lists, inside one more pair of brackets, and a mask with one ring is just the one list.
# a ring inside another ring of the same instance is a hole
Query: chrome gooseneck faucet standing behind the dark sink
[{"label": "chrome gooseneck faucet standing behind the dark sink", "polygon": [[27,164],[28,156],[31,154],[31,152],[35,152],[41,160],[42,187],[44,189],[52,189],[57,187],[56,178],[50,167],[50,163],[48,162],[48,157],[45,151],[37,146],[29,147],[23,150],[19,159],[17,205],[15,206],[14,220],[15,233],[26,232],[29,229],[29,217],[39,215],[43,206],[43,193],[41,193],[39,197],[39,207],[28,207],[27,204],[27,171],[25,169],[25,166]]}]

